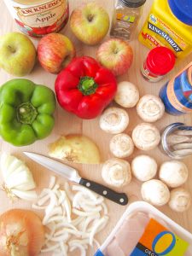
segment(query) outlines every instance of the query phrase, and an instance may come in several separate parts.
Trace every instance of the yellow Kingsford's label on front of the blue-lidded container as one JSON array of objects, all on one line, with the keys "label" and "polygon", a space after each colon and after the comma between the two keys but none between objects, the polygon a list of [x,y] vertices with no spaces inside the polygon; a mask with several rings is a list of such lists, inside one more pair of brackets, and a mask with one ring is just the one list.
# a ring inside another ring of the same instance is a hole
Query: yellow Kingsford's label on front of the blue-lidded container
[{"label": "yellow Kingsford's label on front of the blue-lidded container", "polygon": [[151,13],[139,35],[140,40],[150,49],[157,46],[166,46],[172,49],[176,56],[189,48],[189,44],[173,31],[163,20]]}]

